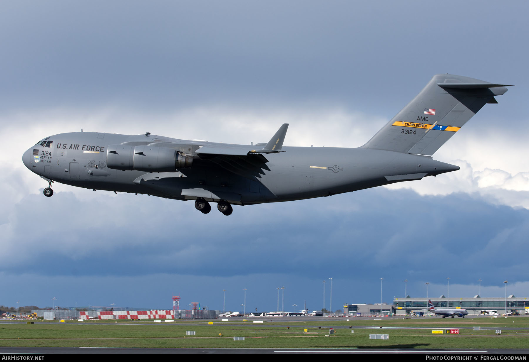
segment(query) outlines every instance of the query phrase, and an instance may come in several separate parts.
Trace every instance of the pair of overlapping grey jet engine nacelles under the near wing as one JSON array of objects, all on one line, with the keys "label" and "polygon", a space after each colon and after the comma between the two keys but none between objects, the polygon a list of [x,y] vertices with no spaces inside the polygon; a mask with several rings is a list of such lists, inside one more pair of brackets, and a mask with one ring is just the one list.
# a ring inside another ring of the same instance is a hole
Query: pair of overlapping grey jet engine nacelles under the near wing
[{"label": "pair of overlapping grey jet engine nacelles under the near wing", "polygon": [[106,152],[107,166],[118,170],[176,172],[192,163],[193,159],[167,147],[110,145]]}]

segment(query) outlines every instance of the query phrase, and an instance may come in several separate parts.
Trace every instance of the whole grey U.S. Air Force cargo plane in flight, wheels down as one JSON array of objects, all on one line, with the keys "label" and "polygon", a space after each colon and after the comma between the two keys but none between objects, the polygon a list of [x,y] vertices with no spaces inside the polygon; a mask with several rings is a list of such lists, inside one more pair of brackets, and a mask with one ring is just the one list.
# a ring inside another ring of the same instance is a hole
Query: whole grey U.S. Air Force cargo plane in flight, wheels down
[{"label": "whole grey U.S. Air Force cargo plane in flight, wheels down", "polygon": [[365,145],[284,147],[288,124],[267,142],[231,145],[98,132],[54,135],[23,155],[48,181],[195,201],[202,213],[232,205],[331,196],[459,170],[431,156],[507,85],[437,74]]}]

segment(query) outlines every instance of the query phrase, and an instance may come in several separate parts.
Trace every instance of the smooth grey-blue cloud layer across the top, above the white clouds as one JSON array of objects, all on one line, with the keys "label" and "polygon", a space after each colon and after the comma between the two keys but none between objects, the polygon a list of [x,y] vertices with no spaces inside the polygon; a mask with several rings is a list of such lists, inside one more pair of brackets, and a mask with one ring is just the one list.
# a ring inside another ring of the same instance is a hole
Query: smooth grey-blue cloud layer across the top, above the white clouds
[{"label": "smooth grey-blue cloud layer across the top, above the white clouds", "polygon": [[[6,2],[0,64],[8,71],[0,82],[1,104],[168,109],[204,102],[263,106],[332,100],[362,110],[388,107],[394,114],[438,72],[509,81],[500,77],[497,63],[508,63],[500,54],[519,47],[468,21],[469,14],[507,13],[508,4],[458,3],[455,14],[449,3],[434,7],[432,12],[423,2],[387,2],[382,10],[376,3],[346,1]],[[444,26],[448,18],[458,26]],[[432,20],[443,26],[432,26]],[[519,23],[504,26],[519,34]],[[466,63],[472,68],[461,66]],[[374,93],[379,97],[369,97]],[[399,94],[403,100],[395,99]]]}]

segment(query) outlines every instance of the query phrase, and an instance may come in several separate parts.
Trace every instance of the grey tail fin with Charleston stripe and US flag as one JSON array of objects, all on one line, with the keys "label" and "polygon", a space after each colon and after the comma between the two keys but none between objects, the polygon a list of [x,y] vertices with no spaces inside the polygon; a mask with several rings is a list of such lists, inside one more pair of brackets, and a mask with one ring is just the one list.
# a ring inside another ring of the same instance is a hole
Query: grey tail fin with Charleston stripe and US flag
[{"label": "grey tail fin with Charleston stripe and US flag", "polygon": [[433,155],[444,142],[507,85],[461,75],[437,74],[362,148]]}]

